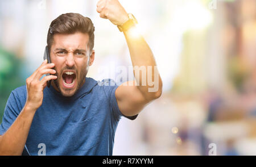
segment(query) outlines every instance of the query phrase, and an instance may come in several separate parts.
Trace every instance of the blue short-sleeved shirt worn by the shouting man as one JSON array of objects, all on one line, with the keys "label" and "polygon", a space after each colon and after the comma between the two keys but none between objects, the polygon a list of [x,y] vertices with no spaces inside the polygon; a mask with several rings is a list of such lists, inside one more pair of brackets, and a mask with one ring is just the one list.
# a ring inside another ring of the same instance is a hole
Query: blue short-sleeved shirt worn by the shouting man
[{"label": "blue short-sleeved shirt worn by the shouting man", "polygon": [[[46,87],[24,149],[30,155],[112,155],[115,130],[124,116],[115,98],[117,87],[113,80],[97,82],[88,77],[72,97]],[[15,121],[26,98],[26,85],[11,92],[0,135]],[[131,120],[136,117],[127,116]]]}]

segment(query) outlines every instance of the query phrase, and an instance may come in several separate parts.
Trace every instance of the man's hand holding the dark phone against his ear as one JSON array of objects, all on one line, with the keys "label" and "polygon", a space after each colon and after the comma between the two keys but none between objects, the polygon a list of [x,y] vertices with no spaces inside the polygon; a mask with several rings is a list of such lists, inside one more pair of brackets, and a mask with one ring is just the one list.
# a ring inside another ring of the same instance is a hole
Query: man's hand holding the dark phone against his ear
[{"label": "man's hand holding the dark phone against his ear", "polygon": [[44,60],[43,64],[39,66],[36,71],[27,78],[27,101],[26,105],[32,110],[37,110],[43,102],[43,90],[47,85],[47,81],[56,80],[57,76],[49,75],[45,76],[40,80],[40,78],[47,73],[55,74],[56,71],[51,69],[55,65],[53,63],[47,64],[47,60]]}]

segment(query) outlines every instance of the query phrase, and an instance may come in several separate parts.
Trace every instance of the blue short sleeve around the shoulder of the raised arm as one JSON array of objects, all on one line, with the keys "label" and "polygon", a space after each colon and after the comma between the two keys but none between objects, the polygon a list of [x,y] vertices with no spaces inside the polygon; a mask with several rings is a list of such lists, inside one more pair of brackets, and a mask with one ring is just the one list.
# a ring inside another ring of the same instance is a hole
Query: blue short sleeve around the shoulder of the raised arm
[{"label": "blue short sleeve around the shoulder of the raised arm", "polygon": [[117,90],[117,83],[115,83],[114,80],[111,79],[105,79],[101,81],[101,86],[104,86],[105,93],[107,97],[109,98],[110,108],[112,109],[114,118],[116,120],[121,119],[121,116],[124,116],[130,120],[134,120],[137,118],[137,115],[134,116],[125,116],[122,114],[122,112],[119,110],[118,104],[117,104],[117,98],[115,98],[115,90]]}]

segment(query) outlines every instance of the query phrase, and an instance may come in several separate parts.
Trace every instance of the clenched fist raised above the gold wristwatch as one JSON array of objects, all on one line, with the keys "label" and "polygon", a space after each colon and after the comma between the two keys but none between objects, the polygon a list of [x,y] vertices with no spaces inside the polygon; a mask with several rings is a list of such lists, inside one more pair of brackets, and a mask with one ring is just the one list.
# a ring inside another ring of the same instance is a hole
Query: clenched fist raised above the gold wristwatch
[{"label": "clenched fist raised above the gold wristwatch", "polygon": [[121,26],[129,20],[127,12],[123,9],[118,0],[98,1],[97,12],[100,13],[101,18],[109,19],[110,22],[117,26]]}]

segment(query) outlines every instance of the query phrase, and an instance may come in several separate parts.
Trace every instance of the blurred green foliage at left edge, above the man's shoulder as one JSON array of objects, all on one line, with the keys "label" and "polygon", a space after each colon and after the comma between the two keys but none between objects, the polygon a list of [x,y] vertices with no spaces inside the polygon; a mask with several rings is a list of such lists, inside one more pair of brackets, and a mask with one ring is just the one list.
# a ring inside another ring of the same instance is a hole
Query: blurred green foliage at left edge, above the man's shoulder
[{"label": "blurred green foliage at left edge, above the man's shoulder", "polygon": [[20,59],[0,47],[0,123],[11,91],[23,85],[21,66]]}]

